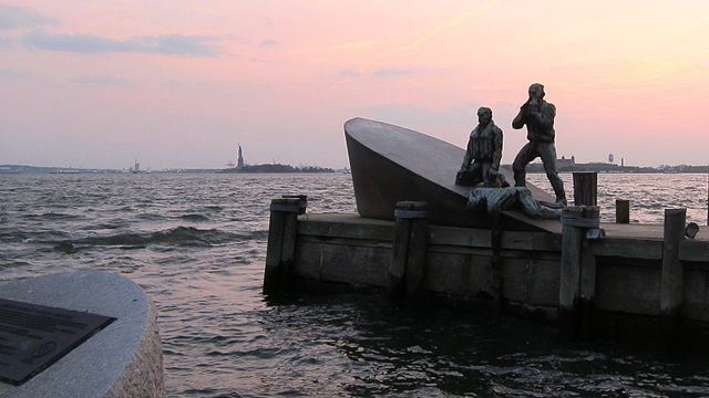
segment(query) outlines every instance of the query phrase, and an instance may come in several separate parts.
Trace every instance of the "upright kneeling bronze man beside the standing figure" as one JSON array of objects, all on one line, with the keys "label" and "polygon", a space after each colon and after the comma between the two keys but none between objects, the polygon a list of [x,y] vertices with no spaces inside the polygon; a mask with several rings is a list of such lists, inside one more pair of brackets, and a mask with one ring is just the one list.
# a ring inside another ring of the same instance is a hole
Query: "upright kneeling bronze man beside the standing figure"
[{"label": "upright kneeling bronze man beside the standing figure", "polygon": [[461,186],[508,187],[504,176],[500,174],[502,158],[502,129],[492,121],[492,109],[477,109],[477,126],[470,133],[467,149],[463,165],[455,176],[455,184]]}]

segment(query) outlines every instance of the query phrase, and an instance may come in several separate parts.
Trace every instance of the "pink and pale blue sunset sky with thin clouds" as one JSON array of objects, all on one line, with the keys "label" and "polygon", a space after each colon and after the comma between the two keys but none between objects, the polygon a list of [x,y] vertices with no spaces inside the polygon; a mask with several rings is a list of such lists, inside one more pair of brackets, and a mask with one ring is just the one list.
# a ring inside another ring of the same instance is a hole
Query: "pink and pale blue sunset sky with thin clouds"
[{"label": "pink and pale blue sunset sky with thin clouds", "polygon": [[531,83],[558,156],[709,163],[709,1],[0,0],[0,164],[346,167],[360,116],[463,147]]}]

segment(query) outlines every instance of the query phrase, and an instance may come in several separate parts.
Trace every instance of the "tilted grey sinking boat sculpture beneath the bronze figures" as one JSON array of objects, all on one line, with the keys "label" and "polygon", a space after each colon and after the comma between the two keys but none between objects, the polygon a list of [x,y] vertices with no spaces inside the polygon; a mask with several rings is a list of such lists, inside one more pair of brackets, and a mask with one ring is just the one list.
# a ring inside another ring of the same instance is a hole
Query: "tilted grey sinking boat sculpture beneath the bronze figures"
[{"label": "tilted grey sinking boat sculpture beneath the bronze figures", "polygon": [[[408,128],[353,118],[345,124],[357,211],[361,217],[393,219],[395,203],[428,203],[427,220],[433,224],[489,227],[484,212],[466,209],[470,187],[455,185],[464,150]],[[512,171],[500,170],[508,181]],[[553,202],[554,197],[527,184],[533,198]],[[534,220],[520,211],[505,211],[517,227],[557,230],[558,221]]]}]

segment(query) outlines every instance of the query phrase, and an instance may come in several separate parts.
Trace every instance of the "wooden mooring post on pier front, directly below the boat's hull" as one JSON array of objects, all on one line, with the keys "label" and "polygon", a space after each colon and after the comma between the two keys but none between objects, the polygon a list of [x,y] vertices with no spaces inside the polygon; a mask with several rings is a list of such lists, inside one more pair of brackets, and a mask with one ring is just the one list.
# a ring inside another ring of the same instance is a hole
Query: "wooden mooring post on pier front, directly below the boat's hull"
[{"label": "wooden mooring post on pier front, directly below the boat's hull", "polygon": [[394,210],[394,239],[389,264],[389,292],[415,302],[425,272],[425,202],[400,201]]}]

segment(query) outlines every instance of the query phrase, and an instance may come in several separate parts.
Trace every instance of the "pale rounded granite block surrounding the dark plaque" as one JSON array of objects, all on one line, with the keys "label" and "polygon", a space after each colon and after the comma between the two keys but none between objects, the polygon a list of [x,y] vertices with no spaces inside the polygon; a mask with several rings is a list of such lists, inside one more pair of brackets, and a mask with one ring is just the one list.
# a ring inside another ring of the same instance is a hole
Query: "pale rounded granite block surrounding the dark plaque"
[{"label": "pale rounded granite block surrounding the dark plaque", "polygon": [[90,312],[115,321],[0,397],[164,397],[156,310],[130,280],[72,272],[0,282],[0,298]]}]

